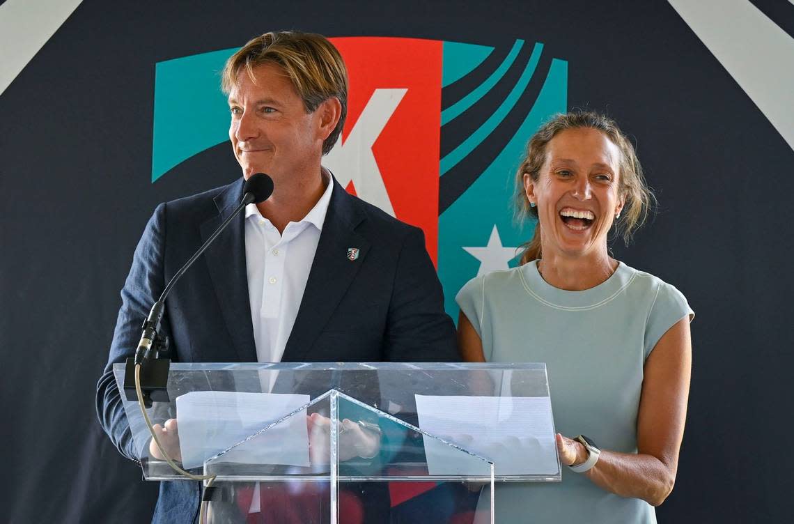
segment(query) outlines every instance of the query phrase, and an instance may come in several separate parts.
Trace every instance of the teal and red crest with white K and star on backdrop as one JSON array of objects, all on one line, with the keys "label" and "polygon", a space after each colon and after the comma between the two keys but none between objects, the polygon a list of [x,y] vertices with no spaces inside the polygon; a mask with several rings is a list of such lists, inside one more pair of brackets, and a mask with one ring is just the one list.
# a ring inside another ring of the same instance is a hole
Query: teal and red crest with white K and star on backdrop
[{"label": "teal and red crest with white K and star on backdrop", "polygon": [[[457,319],[463,284],[515,266],[532,233],[514,222],[513,178],[532,133],[566,109],[568,64],[524,40],[330,40],[345,58],[350,92],[341,141],[323,165],[350,193],[422,228]],[[228,140],[219,71],[236,50],[156,64],[152,183]]]}]

